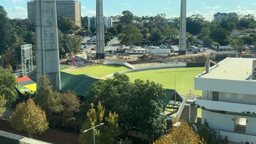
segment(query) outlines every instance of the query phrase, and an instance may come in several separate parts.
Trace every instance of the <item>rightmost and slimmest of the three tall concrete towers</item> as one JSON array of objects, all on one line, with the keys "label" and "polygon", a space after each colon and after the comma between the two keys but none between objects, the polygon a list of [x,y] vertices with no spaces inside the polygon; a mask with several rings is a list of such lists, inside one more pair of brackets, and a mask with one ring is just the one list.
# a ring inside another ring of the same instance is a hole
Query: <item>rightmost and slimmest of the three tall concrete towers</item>
[{"label": "rightmost and slimmest of the three tall concrete towers", "polygon": [[179,55],[185,55],[187,46],[187,0],[181,0],[181,17],[179,19]]}]

